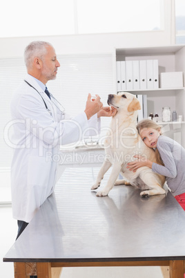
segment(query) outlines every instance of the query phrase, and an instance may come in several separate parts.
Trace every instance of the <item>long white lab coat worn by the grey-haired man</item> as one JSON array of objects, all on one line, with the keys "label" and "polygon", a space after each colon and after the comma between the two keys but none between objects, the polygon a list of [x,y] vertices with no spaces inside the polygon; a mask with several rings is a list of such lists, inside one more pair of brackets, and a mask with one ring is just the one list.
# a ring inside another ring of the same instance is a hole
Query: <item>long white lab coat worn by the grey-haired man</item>
[{"label": "long white lab coat worn by the grey-haired man", "polygon": [[59,145],[81,140],[88,127],[98,128],[98,121],[97,115],[87,120],[84,112],[66,120],[66,114],[57,108],[59,104],[48,98],[32,76],[27,75],[25,80],[41,95],[26,82],[14,93],[11,184],[13,217],[29,223],[54,190],[57,159],[52,158],[58,154]]}]

